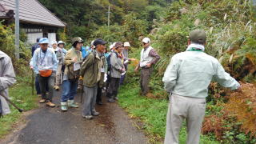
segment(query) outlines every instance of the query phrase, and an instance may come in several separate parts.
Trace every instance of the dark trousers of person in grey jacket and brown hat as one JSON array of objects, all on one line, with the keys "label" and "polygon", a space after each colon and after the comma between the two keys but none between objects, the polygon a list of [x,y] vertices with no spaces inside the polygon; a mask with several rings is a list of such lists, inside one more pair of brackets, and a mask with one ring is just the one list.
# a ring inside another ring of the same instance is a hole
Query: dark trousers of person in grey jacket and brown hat
[{"label": "dark trousers of person in grey jacket and brown hat", "polygon": [[118,88],[120,86],[120,78],[110,78],[110,85],[107,89],[107,96],[109,98],[117,97],[118,95]]}]

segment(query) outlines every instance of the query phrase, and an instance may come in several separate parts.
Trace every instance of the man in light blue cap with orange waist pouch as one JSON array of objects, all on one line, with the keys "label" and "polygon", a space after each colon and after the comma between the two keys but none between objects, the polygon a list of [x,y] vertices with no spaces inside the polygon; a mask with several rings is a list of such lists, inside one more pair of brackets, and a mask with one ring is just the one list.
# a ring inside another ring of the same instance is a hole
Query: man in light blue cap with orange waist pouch
[{"label": "man in light blue cap with orange waist pouch", "polygon": [[[46,102],[46,106],[54,107],[52,98],[54,94],[54,80],[58,66],[56,54],[53,49],[49,49],[48,38],[41,38],[39,41],[40,49],[34,51],[33,69],[38,76],[38,82],[41,88],[42,99],[40,103]],[[48,84],[49,94],[46,95],[46,84]]]}]

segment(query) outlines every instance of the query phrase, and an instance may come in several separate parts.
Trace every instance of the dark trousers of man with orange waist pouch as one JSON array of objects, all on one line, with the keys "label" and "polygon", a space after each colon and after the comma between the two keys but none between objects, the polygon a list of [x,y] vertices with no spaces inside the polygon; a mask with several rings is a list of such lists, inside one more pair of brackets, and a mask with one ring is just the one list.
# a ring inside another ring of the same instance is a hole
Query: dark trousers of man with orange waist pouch
[{"label": "dark trousers of man with orange waist pouch", "polygon": [[[38,75],[38,82],[41,88],[42,98],[52,101],[54,95],[54,81],[55,81],[55,74],[52,73],[50,77],[41,77]],[[46,95],[46,85],[48,84],[49,94]]]}]

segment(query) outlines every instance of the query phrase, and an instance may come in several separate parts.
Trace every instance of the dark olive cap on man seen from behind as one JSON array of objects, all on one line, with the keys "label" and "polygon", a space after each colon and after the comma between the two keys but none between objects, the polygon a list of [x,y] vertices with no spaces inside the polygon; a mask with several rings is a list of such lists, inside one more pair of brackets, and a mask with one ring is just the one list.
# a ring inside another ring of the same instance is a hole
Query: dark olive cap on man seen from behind
[{"label": "dark olive cap on man seen from behind", "polygon": [[204,30],[192,30],[190,32],[190,41],[198,44],[206,43],[206,32]]}]

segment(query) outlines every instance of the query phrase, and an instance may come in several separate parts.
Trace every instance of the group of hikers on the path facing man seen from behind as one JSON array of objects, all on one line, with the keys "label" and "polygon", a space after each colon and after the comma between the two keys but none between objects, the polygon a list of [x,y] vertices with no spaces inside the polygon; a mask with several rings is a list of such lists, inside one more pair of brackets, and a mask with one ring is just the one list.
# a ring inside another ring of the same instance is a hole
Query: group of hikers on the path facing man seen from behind
[{"label": "group of hikers on the path facing man seen from behind", "polygon": [[[39,102],[54,107],[54,89],[59,90],[62,86],[61,110],[77,108],[74,96],[82,90],[82,116],[91,119],[99,114],[95,104],[102,105],[103,88],[106,89],[107,102],[118,101],[118,88],[126,78],[128,64],[134,59],[128,56],[129,42],[114,42],[109,52],[106,51],[107,43],[98,38],[85,47],[82,38],[77,37],[72,39],[70,50],[66,50],[62,41],[50,43],[48,38],[38,39],[32,47],[30,68],[37,75],[36,90],[42,96]],[[160,56],[150,46],[150,38],[144,38],[142,46],[141,62],[135,70],[142,69],[142,94],[146,95],[153,65]]]}]

